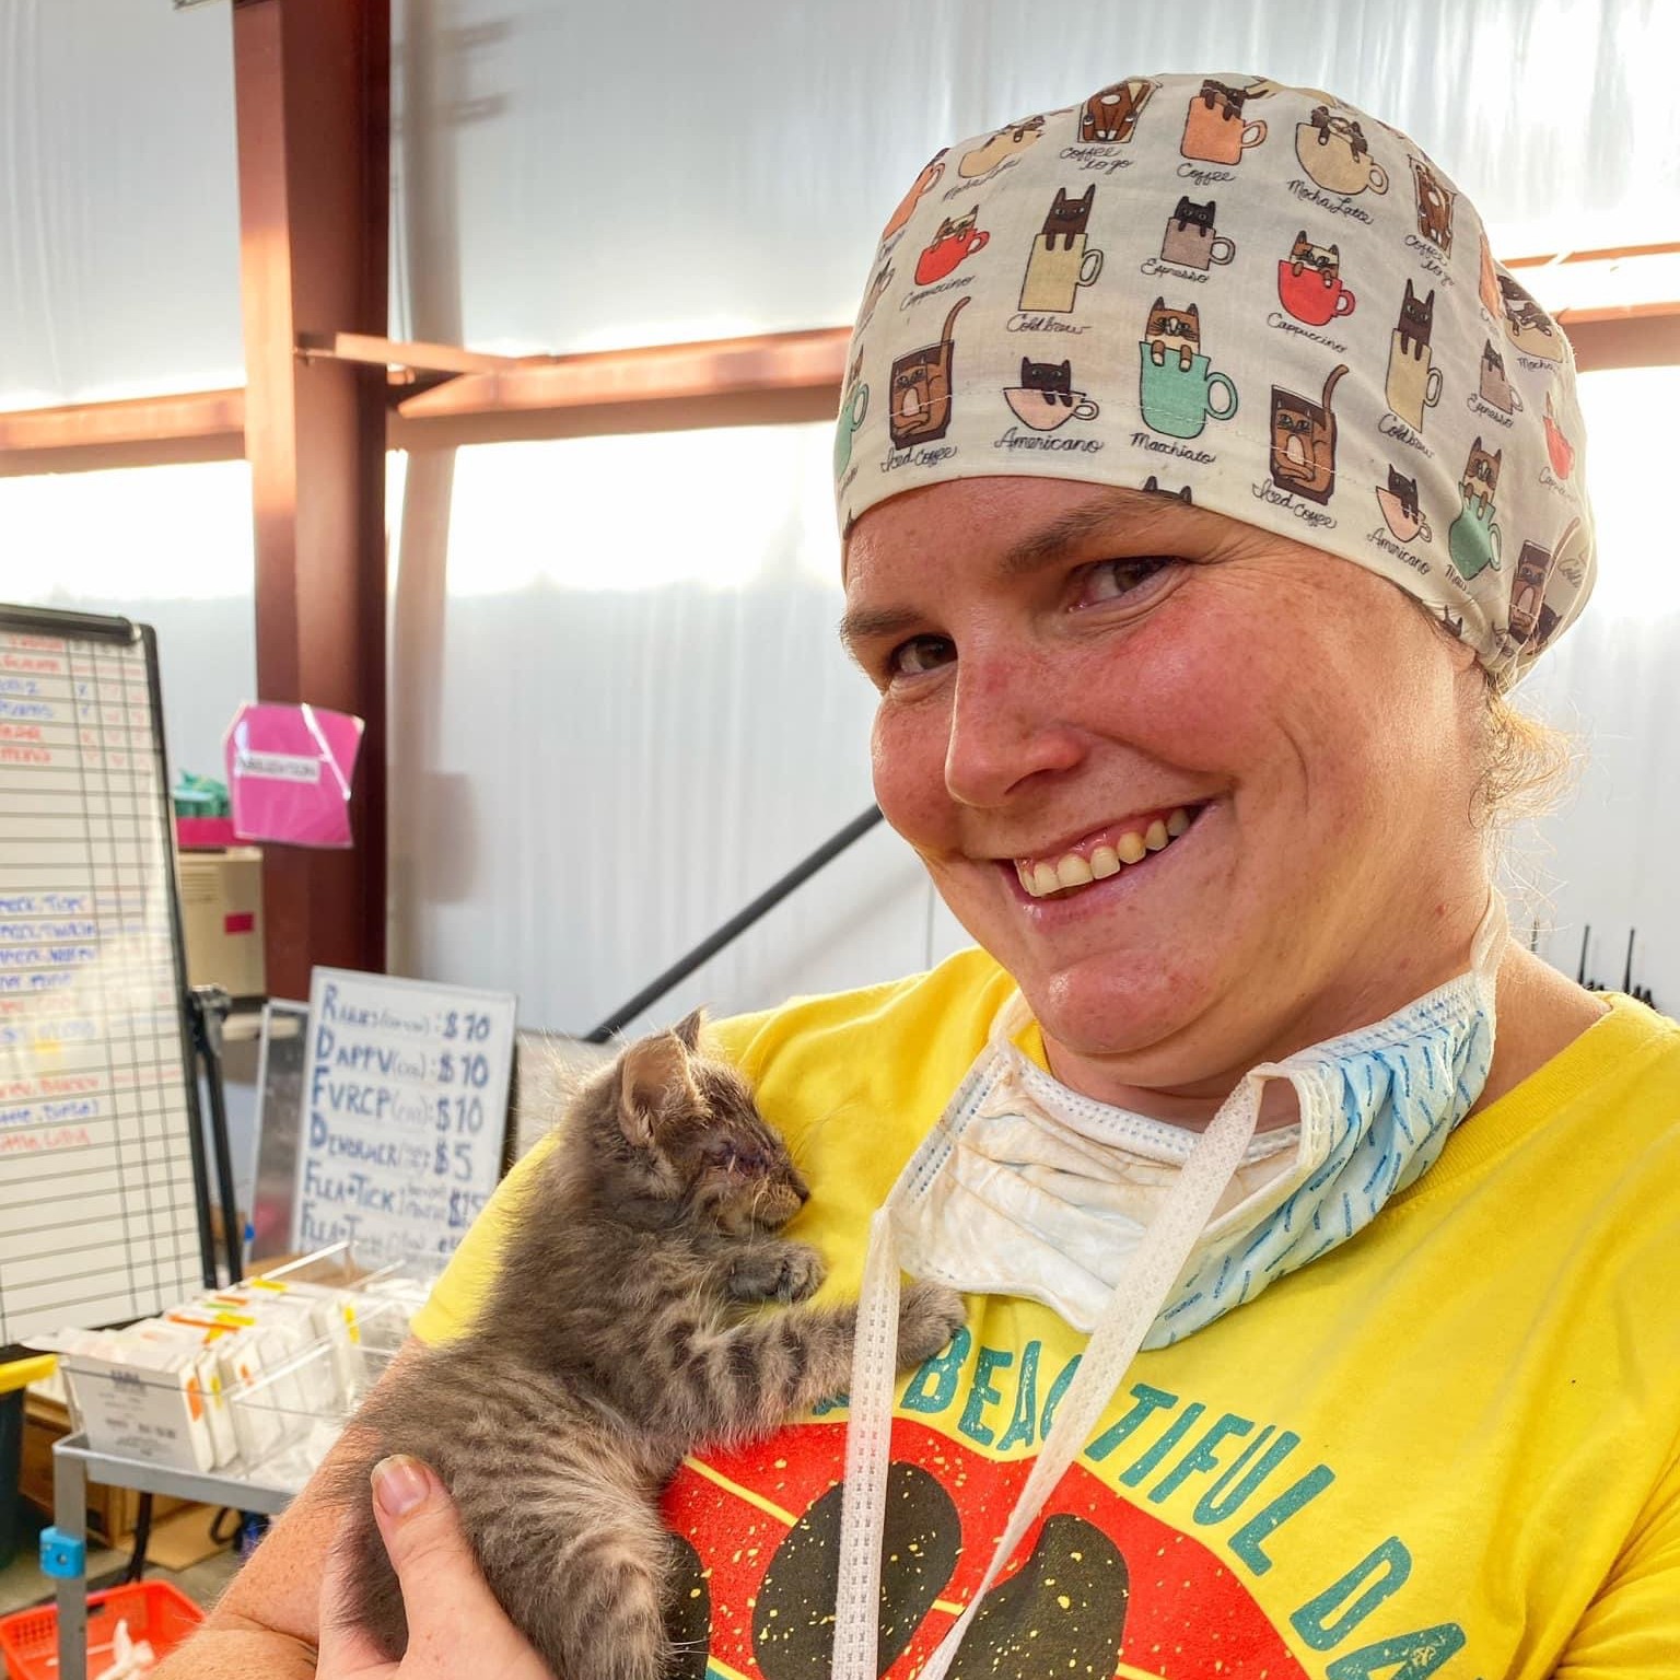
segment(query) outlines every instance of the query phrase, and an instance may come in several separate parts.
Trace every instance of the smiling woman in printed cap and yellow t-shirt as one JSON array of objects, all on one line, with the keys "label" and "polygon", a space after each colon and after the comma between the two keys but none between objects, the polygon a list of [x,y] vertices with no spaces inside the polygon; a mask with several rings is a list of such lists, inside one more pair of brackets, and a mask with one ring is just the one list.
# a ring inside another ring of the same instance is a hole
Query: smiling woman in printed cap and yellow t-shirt
[{"label": "smiling woman in printed cap and yellow t-shirt", "polygon": [[[1008,116],[884,197],[833,452],[875,791],[978,949],[712,1028],[858,1336],[667,1487],[669,1672],[1668,1673],[1680,1028],[1509,937],[1487,832],[1594,580],[1569,348],[1326,92]],[[966,1320],[895,1383],[900,1272]]]}]

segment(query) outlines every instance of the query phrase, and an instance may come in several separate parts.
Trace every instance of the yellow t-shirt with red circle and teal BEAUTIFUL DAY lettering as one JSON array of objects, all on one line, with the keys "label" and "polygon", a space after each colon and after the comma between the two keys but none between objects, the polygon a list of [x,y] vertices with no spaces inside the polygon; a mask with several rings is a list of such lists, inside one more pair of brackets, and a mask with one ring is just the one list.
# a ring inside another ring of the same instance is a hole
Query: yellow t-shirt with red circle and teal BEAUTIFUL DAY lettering
[{"label": "yellow t-shirt with red circle and teal BEAUTIFUL DAY lettering", "polygon": [[[828,1258],[822,1299],[857,1294],[869,1215],[1008,990],[974,951],[714,1028],[813,1186],[788,1235]],[[1680,1677],[1680,1026],[1609,1005],[1351,1242],[1139,1354],[954,1675]],[[427,1341],[472,1317],[506,1208]],[[906,1379],[887,1673],[973,1593],[1082,1346],[1047,1307],[969,1297]],[[827,1672],[843,1418],[674,1480],[677,1614],[709,1628],[709,1675]]]}]

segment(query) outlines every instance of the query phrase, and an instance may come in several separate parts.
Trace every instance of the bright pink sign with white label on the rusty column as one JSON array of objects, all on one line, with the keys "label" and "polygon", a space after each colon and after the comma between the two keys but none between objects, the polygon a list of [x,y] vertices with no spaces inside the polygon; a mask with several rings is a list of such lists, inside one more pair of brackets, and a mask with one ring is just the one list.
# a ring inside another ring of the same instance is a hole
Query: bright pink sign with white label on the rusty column
[{"label": "bright pink sign with white label on the rusty column", "polygon": [[349,785],[363,722],[321,706],[247,704],[222,741],[234,833],[348,847]]}]

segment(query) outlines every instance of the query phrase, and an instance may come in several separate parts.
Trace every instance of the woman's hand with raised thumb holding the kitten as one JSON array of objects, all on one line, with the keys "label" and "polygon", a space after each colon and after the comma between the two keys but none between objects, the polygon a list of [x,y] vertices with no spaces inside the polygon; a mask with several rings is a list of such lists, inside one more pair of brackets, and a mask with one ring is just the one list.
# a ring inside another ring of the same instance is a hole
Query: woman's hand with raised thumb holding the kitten
[{"label": "woman's hand with raised thumb holding the kitten", "polygon": [[507,1620],[460,1532],[455,1505],[417,1458],[386,1458],[373,1472],[373,1510],[408,1613],[408,1651],[386,1662],[343,1621],[344,1551],[333,1547],[321,1583],[318,1680],[554,1680]]}]

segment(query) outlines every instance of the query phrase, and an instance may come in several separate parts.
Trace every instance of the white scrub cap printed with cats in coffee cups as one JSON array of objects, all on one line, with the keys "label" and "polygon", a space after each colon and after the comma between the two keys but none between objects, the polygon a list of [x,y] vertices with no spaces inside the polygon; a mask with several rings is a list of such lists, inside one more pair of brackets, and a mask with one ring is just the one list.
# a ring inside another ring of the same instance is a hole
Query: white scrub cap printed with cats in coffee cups
[{"label": "white scrub cap printed with cats in coffee cups", "polygon": [[1574,360],[1425,151],[1329,94],[1132,76],[937,153],[847,356],[842,531],[1020,474],[1368,566],[1502,687],[1593,586]]}]

